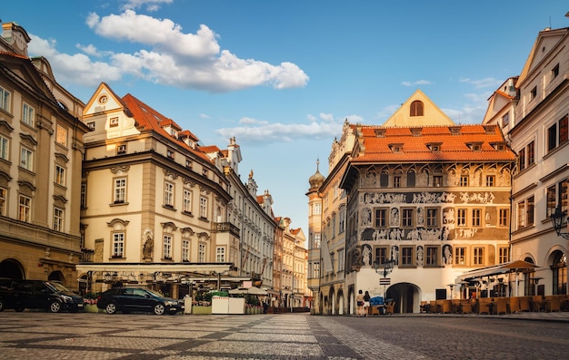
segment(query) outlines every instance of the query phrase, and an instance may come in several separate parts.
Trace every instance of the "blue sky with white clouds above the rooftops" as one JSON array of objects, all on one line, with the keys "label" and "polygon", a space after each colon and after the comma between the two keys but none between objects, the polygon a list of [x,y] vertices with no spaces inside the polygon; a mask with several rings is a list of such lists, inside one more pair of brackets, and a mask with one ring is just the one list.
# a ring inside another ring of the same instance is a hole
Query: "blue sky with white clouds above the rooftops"
[{"label": "blue sky with white clouds above the rooftops", "polygon": [[6,2],[3,22],[87,102],[132,93],[225,149],[236,138],[276,216],[308,237],[308,178],[342,123],[383,124],[416,89],[454,122],[482,122],[566,1],[58,0]]}]

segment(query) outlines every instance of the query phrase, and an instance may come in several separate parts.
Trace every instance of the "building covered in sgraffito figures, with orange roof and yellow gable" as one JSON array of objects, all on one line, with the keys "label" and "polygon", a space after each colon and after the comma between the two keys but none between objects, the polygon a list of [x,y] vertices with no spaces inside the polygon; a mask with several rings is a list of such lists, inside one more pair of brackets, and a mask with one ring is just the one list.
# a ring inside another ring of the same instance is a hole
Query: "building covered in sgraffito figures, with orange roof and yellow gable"
[{"label": "building covered in sgraffito figures, with orange roof and yellow gable", "polygon": [[383,126],[347,129],[354,148],[340,188],[350,314],[360,289],[393,298],[401,313],[418,312],[422,300],[469,297],[474,286],[447,285],[509,260],[515,156],[498,126],[456,125],[416,91]]}]

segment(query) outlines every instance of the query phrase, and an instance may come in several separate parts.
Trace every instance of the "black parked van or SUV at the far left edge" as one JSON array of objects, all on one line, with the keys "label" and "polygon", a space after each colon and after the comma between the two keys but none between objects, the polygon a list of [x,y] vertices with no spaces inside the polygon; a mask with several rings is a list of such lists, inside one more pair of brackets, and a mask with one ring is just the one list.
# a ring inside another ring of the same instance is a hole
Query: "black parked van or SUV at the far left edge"
[{"label": "black parked van or SUV at the far left edge", "polygon": [[83,297],[54,281],[13,280],[11,287],[2,292],[4,308],[18,312],[26,308],[46,309],[52,313],[83,309]]}]

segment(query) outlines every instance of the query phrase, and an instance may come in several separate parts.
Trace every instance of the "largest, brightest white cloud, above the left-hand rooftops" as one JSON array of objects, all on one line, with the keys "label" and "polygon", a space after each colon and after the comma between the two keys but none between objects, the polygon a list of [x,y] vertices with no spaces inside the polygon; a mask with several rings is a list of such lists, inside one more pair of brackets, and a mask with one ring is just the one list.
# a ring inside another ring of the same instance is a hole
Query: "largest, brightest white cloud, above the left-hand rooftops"
[{"label": "largest, brightest white cloud, above the left-hand rooftops", "polygon": [[205,24],[195,34],[185,34],[169,19],[138,15],[133,10],[104,17],[91,14],[86,24],[108,39],[142,44],[144,48],[133,54],[112,54],[110,61],[122,72],[147,81],[229,92],[261,85],[275,89],[303,87],[309,80],[294,63],[274,65],[220,50],[219,36]]}]

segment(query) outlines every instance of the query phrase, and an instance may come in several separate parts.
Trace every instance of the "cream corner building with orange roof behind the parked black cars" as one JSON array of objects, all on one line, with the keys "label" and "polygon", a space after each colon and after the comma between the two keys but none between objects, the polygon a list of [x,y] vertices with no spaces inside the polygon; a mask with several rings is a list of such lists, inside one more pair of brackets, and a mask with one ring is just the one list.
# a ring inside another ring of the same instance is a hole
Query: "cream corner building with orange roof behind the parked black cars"
[{"label": "cream corner building with orange roof behind the parked black cars", "polygon": [[150,284],[182,297],[188,284],[242,281],[223,159],[208,156],[191,131],[105,83],[83,120],[90,129],[81,184],[85,258],[77,268],[87,284]]}]

